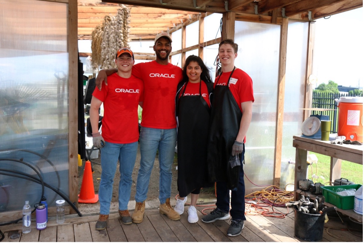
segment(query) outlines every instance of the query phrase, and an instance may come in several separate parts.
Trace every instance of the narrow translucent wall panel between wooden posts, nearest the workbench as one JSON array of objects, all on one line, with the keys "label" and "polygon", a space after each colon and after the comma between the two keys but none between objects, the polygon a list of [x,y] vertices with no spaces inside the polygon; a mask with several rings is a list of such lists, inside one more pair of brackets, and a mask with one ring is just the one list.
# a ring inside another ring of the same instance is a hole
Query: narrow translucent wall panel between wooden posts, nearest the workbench
[{"label": "narrow translucent wall panel between wooden posts, nearest the workbench", "polygon": [[[306,55],[308,22],[288,22],[286,80],[284,91],[284,120],[282,138],[281,188],[294,183],[296,148],[292,146],[292,136],[301,134],[303,121],[306,77]],[[293,186],[291,186],[293,190]]]}]

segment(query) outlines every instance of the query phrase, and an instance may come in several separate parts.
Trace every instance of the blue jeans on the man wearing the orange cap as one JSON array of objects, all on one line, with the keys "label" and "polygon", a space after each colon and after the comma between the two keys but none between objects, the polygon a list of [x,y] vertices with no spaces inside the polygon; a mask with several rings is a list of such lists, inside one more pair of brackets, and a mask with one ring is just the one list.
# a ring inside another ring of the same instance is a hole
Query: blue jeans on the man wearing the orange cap
[{"label": "blue jeans on the man wearing the orange cap", "polygon": [[127,210],[131,191],[131,174],[137,158],[138,142],[108,143],[101,148],[100,214],[110,213],[112,185],[119,160],[119,210]]}]

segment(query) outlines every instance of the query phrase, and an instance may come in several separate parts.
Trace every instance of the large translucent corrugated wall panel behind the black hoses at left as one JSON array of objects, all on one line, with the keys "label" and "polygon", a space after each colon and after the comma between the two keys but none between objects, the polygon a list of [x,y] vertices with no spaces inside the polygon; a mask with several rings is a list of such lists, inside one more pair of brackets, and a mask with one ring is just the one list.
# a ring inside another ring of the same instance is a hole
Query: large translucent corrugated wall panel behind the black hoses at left
[{"label": "large translucent corrugated wall panel behind the black hoses at left", "polygon": [[[25,200],[32,206],[39,202],[37,172],[44,183],[69,195],[68,5],[0,0],[0,13],[0,212],[4,212],[21,210]],[[61,199],[47,187],[44,195],[53,206]]]}]

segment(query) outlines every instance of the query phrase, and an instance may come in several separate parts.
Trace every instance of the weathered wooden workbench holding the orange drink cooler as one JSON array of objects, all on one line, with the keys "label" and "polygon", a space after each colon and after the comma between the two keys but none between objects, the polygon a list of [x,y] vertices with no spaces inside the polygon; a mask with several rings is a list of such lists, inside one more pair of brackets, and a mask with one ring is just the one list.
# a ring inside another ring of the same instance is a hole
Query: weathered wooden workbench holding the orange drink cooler
[{"label": "weathered wooden workbench holding the orange drink cooler", "polygon": [[[300,180],[307,179],[307,151],[330,156],[330,185],[335,179],[341,178],[341,160],[363,164],[363,145],[331,144],[330,141],[321,141],[321,139],[293,136],[293,147],[296,148],[294,169],[294,186],[296,189],[299,188]],[[295,200],[297,200],[297,194],[295,194]],[[363,216],[356,214],[353,210],[338,208],[337,211],[363,221]]]}]

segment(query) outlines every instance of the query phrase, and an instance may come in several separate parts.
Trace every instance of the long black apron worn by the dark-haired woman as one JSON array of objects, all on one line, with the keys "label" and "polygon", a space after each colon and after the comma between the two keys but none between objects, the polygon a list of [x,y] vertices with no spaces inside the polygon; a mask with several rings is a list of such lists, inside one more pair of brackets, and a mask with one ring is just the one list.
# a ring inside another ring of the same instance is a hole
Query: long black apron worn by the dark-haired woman
[{"label": "long black apron worn by the dark-haired woman", "polygon": [[178,178],[177,186],[180,196],[208,185],[207,178],[207,135],[210,119],[210,108],[201,95],[186,95],[188,82],[181,91],[177,104],[178,115]]}]

